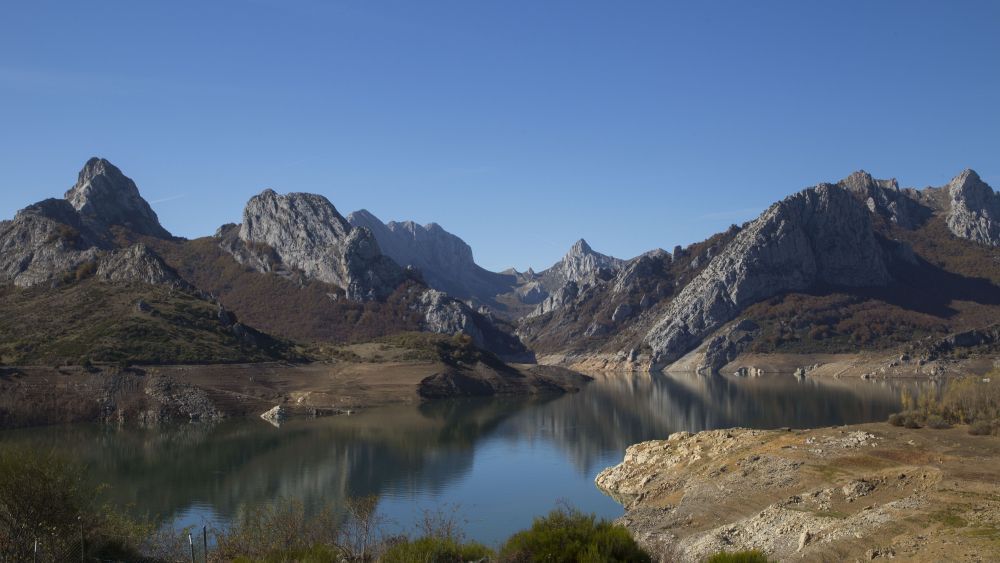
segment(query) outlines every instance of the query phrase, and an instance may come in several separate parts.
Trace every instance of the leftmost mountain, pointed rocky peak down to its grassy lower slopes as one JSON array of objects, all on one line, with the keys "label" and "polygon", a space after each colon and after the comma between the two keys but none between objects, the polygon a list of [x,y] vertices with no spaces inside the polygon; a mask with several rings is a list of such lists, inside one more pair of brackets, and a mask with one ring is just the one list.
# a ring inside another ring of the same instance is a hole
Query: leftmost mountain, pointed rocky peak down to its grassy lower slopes
[{"label": "leftmost mountain, pointed rocky peak down to its grassy lower slopes", "polygon": [[171,240],[135,183],[97,158],[66,199],[0,223],[0,363],[295,357],[134,242],[144,237]]}]

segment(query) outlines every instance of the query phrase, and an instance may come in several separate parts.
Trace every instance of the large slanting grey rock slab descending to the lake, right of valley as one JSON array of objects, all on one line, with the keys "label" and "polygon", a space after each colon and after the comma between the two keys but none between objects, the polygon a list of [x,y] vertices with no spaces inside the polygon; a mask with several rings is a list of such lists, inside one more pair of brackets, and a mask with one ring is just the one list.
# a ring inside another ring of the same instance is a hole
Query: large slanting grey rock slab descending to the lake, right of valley
[{"label": "large slanting grey rock slab descending to the lake, right of valley", "polygon": [[889,281],[868,209],[846,189],[821,184],[765,211],[668,305],[645,337],[651,364],[676,361],[745,307],[817,282]]}]

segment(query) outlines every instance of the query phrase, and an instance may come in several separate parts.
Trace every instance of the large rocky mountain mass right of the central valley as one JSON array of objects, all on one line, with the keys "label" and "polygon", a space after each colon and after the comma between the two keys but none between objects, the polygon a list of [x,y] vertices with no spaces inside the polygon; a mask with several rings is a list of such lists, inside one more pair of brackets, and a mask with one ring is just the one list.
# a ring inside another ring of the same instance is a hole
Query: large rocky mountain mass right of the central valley
[{"label": "large rocky mountain mass right of the central valley", "polygon": [[[1000,196],[966,170],[900,189],[860,171],[704,243],[560,290],[519,334],[589,367],[718,369],[747,351],[891,349],[1000,318]],[[570,287],[570,289],[573,289]]]}]

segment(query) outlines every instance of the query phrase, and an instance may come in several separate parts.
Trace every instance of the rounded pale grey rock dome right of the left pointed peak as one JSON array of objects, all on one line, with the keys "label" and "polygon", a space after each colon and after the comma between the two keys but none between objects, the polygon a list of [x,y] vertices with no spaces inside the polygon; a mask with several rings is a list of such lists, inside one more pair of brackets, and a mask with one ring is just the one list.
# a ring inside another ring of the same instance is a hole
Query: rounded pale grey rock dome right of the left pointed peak
[{"label": "rounded pale grey rock dome right of the left pointed peak", "polygon": [[406,278],[369,229],[352,228],[321,195],[264,190],[247,203],[239,239],[241,249],[224,246],[237,260],[260,271],[280,262],[343,288],[352,300],[381,299]]}]

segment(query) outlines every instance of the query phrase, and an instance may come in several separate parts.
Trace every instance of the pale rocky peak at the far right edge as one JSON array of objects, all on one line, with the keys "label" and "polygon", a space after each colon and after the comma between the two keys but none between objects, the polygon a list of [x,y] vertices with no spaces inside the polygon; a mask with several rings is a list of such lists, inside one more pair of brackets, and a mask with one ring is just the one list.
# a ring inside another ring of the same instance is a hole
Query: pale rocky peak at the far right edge
[{"label": "pale rocky peak at the far right edge", "polygon": [[947,186],[951,209],[947,223],[960,238],[1000,246],[1000,194],[973,170],[965,170]]}]

